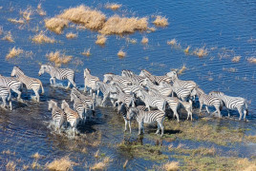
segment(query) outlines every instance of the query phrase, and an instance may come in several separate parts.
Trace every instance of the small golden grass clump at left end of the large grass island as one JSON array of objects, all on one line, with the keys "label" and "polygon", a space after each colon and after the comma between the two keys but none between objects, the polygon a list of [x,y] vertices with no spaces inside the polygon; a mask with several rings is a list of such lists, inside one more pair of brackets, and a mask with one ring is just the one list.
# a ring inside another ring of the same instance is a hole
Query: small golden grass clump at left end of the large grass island
[{"label": "small golden grass clump at left end of the large grass island", "polygon": [[61,34],[65,27],[69,26],[69,21],[61,18],[50,18],[45,20],[45,27],[53,30],[57,34]]}]

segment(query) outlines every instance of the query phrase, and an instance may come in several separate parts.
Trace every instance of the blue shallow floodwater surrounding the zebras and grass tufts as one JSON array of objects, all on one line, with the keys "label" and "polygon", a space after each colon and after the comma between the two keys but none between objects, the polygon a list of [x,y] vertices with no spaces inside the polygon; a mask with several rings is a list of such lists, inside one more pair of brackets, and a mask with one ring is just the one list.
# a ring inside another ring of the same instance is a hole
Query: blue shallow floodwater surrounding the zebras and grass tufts
[{"label": "blue shallow floodwater surrounding the zebras and grass tufts", "polygon": [[[182,80],[193,80],[205,92],[221,90],[230,96],[241,96],[247,100],[249,115],[247,122],[238,122],[237,111],[231,112],[232,119],[226,119],[226,111],[222,112],[224,119],[213,119],[213,125],[227,126],[230,128],[249,129],[248,135],[256,134],[256,64],[250,64],[247,59],[256,56],[256,3],[249,1],[121,1],[120,10],[106,10],[104,5],[110,1],[4,1],[0,0],[0,26],[3,27],[1,39],[11,30],[15,43],[0,40],[0,74],[11,75],[13,66],[20,68],[29,76],[39,78],[45,88],[41,102],[32,102],[33,92],[23,93],[25,103],[13,102],[13,111],[0,109],[0,152],[10,149],[14,155],[0,154],[0,169],[4,170],[8,161],[16,161],[16,168],[21,169],[23,164],[31,164],[32,155],[38,152],[44,157],[38,163],[44,165],[53,159],[69,156],[75,161],[75,170],[88,169],[97,160],[94,154],[99,149],[102,156],[113,159],[108,166],[109,170],[123,169],[123,163],[129,160],[127,170],[144,170],[160,165],[161,161],[149,161],[137,157],[117,148],[123,141],[139,141],[155,144],[152,139],[138,138],[137,126],[133,128],[132,135],[123,133],[123,120],[112,107],[96,107],[96,115],[87,121],[86,126],[78,127],[80,133],[75,139],[65,133],[57,135],[49,126],[51,111],[48,111],[48,100],[70,100],[70,90],[63,88],[67,85],[53,87],[49,83],[50,76],[44,74],[38,77],[39,63],[49,63],[46,54],[50,51],[61,50],[67,55],[74,56],[69,65],[75,69],[75,82],[83,88],[83,69],[88,67],[92,74],[101,80],[106,72],[120,74],[122,69],[131,69],[139,74],[140,69],[146,68],[155,75],[163,75],[171,68],[187,69],[181,74]],[[32,6],[35,10],[38,3],[46,10],[46,16],[32,14],[32,20],[25,25],[13,24],[9,18],[22,17],[20,10]],[[43,20],[59,14],[60,11],[84,3],[93,9],[101,10],[107,17],[117,13],[123,16],[137,16],[149,18],[150,26],[154,26],[152,15],[160,14],[168,18],[169,26],[157,28],[154,32],[136,32],[123,37],[108,36],[103,47],[95,44],[97,32],[89,29],[76,29],[70,23],[63,33],[56,35],[47,30],[46,34],[53,36],[58,42],[55,44],[37,45],[32,43],[32,36],[38,30],[46,30]],[[36,30],[38,28],[38,30]],[[78,33],[78,37],[68,40],[68,32]],[[149,39],[147,45],[140,44],[143,36]],[[137,39],[137,44],[127,42],[127,38]],[[180,46],[172,47],[166,42],[176,39]],[[207,48],[208,55],[199,58],[194,54],[185,54],[183,49],[190,46],[191,52],[197,47]],[[15,59],[6,60],[6,54],[12,47],[21,47],[25,52]],[[83,56],[84,48],[90,48],[92,55]],[[126,57],[119,59],[117,51],[122,48],[127,53]],[[30,53],[32,51],[32,54]],[[234,56],[241,56],[238,63],[231,62]],[[57,82],[60,83],[60,82]],[[15,96],[15,95],[14,95]],[[213,111],[213,108],[210,108]],[[205,111],[205,110],[204,110]],[[205,113],[205,116],[207,114]],[[184,118],[184,117],[183,117]],[[195,114],[196,121],[199,117]],[[137,125],[134,123],[133,125]],[[153,132],[156,127],[146,127],[146,134]],[[167,131],[168,133],[168,131]],[[100,142],[96,144],[94,142]],[[188,146],[198,146],[201,142],[176,140],[174,143],[185,143]],[[168,142],[163,140],[163,144]],[[202,144],[204,144],[202,142]],[[220,147],[214,143],[205,143],[222,148],[223,151],[235,149],[240,157],[250,158],[256,154],[255,143],[238,144],[233,147]],[[83,149],[86,149],[86,153]],[[223,153],[224,153],[223,152]],[[165,152],[168,154],[167,152]],[[21,159],[21,161],[17,161]],[[171,157],[169,158],[171,160]],[[163,161],[162,161],[163,162]]]}]

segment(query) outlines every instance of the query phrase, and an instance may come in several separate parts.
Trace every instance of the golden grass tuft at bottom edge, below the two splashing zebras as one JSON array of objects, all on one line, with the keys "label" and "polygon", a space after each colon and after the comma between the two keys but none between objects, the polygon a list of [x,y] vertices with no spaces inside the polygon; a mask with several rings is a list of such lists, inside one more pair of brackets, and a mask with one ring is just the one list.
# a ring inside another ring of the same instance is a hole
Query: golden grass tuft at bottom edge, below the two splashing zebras
[{"label": "golden grass tuft at bottom edge, below the two splashing zebras", "polygon": [[46,168],[49,170],[66,171],[72,169],[73,161],[69,157],[63,157],[58,160],[54,160],[51,163],[46,164]]}]

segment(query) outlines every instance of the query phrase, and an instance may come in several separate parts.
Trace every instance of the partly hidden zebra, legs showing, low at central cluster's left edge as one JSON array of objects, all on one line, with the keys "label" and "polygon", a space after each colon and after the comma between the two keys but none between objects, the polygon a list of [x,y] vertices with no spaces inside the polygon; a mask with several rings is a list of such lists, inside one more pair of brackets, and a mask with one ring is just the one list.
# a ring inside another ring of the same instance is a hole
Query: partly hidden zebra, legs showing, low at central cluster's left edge
[{"label": "partly hidden zebra, legs showing, low at central cluster's left edge", "polygon": [[106,102],[107,98],[110,96],[110,93],[117,93],[117,87],[115,85],[107,85],[102,82],[96,82],[96,90],[100,90],[103,94],[101,105]]}]

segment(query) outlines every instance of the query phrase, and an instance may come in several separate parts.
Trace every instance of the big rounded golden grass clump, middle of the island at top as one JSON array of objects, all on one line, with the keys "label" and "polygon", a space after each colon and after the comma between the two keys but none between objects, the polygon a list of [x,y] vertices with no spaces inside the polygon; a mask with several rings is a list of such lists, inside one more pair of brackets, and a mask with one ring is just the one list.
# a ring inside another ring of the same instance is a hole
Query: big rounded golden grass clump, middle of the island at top
[{"label": "big rounded golden grass clump, middle of the island at top", "polygon": [[102,28],[106,21],[106,16],[101,11],[92,10],[84,5],[64,10],[58,17],[74,23],[83,24],[89,29]]}]

